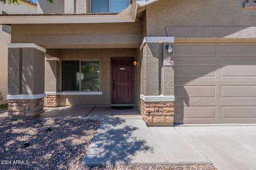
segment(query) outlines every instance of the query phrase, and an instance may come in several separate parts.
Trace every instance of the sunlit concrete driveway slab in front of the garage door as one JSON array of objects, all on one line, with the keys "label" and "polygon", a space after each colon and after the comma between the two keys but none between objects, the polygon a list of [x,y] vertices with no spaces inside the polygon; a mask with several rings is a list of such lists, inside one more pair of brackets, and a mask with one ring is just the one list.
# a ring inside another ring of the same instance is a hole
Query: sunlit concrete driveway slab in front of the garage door
[{"label": "sunlit concrete driveway slab in front of the garage door", "polygon": [[256,126],[176,127],[219,170],[256,169]]}]

